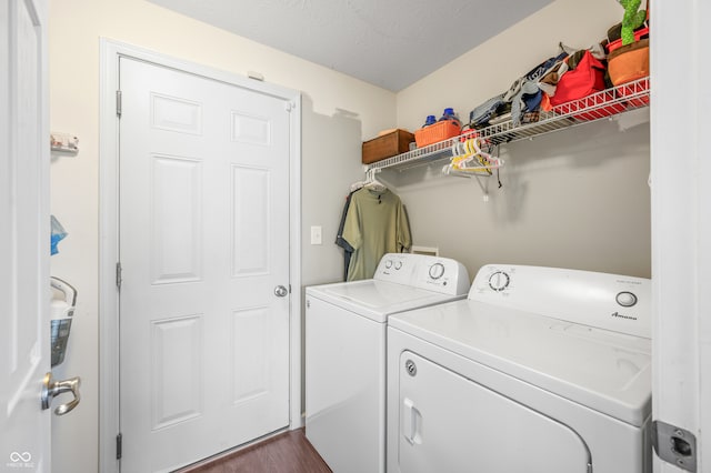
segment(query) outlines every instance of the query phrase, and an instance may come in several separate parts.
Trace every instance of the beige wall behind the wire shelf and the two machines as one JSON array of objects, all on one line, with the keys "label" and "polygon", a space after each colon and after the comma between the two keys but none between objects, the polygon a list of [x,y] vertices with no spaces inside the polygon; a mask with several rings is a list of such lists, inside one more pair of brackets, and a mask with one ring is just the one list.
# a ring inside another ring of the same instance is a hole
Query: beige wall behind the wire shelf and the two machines
[{"label": "beige wall behind the wire shelf and the two machines", "polygon": [[[613,0],[558,0],[398,93],[398,125],[469,112],[558,42],[587,48],[622,18]],[[485,263],[540,264],[650,276],[649,112],[632,112],[502,147],[503,188],[440,177],[442,164],[388,175],[408,207],[415,244],[439,246],[473,276]],[[445,228],[443,232],[441,229]]]}]

